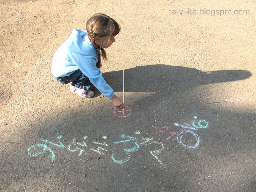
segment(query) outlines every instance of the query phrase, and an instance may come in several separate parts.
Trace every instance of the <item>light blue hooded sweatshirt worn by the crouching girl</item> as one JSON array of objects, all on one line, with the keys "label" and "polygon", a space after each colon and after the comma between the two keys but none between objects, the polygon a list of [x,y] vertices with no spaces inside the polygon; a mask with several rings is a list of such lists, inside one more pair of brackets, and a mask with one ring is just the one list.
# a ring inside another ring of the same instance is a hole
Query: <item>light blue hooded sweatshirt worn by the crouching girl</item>
[{"label": "light blue hooded sweatshirt worn by the crouching girl", "polygon": [[80,69],[105,97],[112,98],[115,95],[114,91],[106,84],[100,69],[96,66],[97,62],[98,54],[87,32],[74,28],[53,56],[52,74],[54,77],[65,77]]}]

